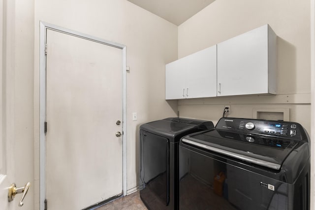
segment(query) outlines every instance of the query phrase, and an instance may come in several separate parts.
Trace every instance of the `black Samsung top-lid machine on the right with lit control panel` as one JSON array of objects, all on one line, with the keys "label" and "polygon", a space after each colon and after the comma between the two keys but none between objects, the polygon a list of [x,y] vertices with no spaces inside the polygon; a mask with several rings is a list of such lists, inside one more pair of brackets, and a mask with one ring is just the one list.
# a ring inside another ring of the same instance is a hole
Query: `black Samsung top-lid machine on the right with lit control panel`
[{"label": "black Samsung top-lid machine on the right with lit control panel", "polygon": [[181,210],[309,210],[310,139],[295,122],[221,118],[179,146]]}]

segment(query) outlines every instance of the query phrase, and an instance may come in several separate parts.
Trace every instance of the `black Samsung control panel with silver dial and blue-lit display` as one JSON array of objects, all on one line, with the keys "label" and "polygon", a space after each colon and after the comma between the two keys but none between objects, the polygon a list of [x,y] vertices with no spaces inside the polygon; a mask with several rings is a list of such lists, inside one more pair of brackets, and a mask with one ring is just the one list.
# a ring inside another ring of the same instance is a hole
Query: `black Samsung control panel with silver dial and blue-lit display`
[{"label": "black Samsung control panel with silver dial and blue-lit display", "polygon": [[217,130],[248,134],[247,140],[251,142],[251,134],[283,137],[292,140],[306,138],[305,131],[299,123],[257,120],[245,118],[221,118],[216,125]]}]

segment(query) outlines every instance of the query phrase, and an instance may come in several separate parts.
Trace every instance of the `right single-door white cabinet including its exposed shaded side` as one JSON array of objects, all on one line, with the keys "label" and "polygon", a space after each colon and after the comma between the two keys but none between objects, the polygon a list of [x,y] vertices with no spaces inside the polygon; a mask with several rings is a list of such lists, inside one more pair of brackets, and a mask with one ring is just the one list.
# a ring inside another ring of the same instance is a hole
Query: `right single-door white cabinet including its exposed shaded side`
[{"label": "right single-door white cabinet including its exposed shaded side", "polygon": [[276,94],[277,35],[269,25],[218,44],[217,96]]}]

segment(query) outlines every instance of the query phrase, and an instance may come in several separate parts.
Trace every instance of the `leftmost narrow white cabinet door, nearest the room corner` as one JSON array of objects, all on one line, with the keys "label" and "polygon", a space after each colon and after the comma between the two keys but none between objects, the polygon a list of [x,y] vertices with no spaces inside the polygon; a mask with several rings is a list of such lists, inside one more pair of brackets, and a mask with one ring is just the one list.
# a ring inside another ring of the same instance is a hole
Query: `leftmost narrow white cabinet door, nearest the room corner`
[{"label": "leftmost narrow white cabinet door, nearest the room corner", "polygon": [[187,57],[165,65],[165,99],[186,98]]}]

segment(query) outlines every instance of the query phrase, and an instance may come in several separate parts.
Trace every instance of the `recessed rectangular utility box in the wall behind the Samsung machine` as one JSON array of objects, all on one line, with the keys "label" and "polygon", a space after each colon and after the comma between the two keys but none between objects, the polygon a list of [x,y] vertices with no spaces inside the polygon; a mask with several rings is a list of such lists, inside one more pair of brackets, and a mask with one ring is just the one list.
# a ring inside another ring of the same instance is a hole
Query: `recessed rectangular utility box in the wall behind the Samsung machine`
[{"label": "recessed rectangular utility box in the wall behind the Samsung machine", "polygon": [[289,108],[252,108],[253,119],[290,121]]}]

